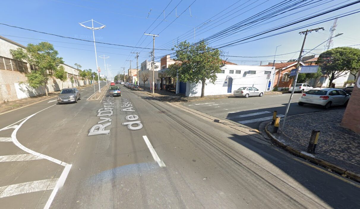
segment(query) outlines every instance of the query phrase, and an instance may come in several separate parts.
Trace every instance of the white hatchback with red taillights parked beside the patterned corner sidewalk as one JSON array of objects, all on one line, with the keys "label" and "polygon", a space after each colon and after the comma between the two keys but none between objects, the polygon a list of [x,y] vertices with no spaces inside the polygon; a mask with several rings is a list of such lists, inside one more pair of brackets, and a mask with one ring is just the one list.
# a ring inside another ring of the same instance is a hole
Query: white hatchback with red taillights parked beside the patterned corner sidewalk
[{"label": "white hatchback with red taillights parked beside the patterned corner sidewalk", "polygon": [[299,99],[298,105],[315,104],[329,109],[335,105],[347,105],[350,95],[338,88],[313,88],[303,93]]}]

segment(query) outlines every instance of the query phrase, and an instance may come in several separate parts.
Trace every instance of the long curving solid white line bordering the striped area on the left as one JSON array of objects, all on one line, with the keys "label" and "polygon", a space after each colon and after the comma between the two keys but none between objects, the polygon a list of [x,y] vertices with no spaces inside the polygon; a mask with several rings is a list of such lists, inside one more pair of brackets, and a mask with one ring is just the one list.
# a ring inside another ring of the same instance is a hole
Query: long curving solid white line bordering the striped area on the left
[{"label": "long curving solid white line bordering the striped area on the left", "polygon": [[[57,181],[55,187],[51,187],[51,188],[50,188],[50,189],[53,189],[53,191],[51,192],[51,195],[50,195],[48,201],[46,202],[46,205],[44,206],[44,209],[49,209],[49,208],[50,208],[50,205],[51,205],[51,203],[53,202],[54,197],[55,197],[56,193],[58,192],[59,188],[61,188],[61,187],[64,185],[64,182],[65,182],[65,180],[66,180],[66,178],[67,178],[67,176],[68,176],[68,174],[69,174],[69,171],[70,171],[72,165],[71,165],[71,164],[67,164],[67,163],[65,163],[65,162],[62,162],[62,161],[60,161],[60,160],[57,160],[57,159],[55,159],[55,158],[52,158],[52,157],[50,157],[50,156],[37,153],[37,152],[35,152],[35,151],[31,150],[31,149],[28,149],[28,148],[25,147],[24,145],[20,144],[20,142],[19,142],[18,139],[16,138],[16,133],[18,132],[19,128],[20,128],[28,119],[30,119],[31,117],[33,117],[33,116],[36,115],[37,113],[40,113],[40,112],[42,112],[42,111],[44,111],[44,110],[46,110],[46,109],[48,109],[48,108],[51,108],[52,106],[55,106],[55,105],[56,105],[56,104],[51,105],[51,106],[49,106],[49,107],[47,107],[47,108],[45,108],[45,109],[42,109],[42,110],[40,110],[39,112],[36,112],[36,113],[34,113],[34,114],[32,114],[32,115],[24,118],[23,121],[20,120],[20,121],[22,121],[22,122],[19,124],[18,127],[15,128],[15,130],[14,130],[13,133],[11,134],[11,139],[12,139],[13,143],[14,143],[17,147],[19,147],[20,149],[26,151],[27,153],[36,155],[36,156],[38,156],[38,157],[40,157],[40,158],[47,159],[47,160],[49,160],[49,161],[51,161],[51,162],[54,162],[54,163],[56,163],[56,164],[59,164],[59,165],[62,165],[62,166],[65,167],[64,170],[63,170],[63,172],[62,172],[61,175],[60,175],[60,178],[56,179],[56,180],[58,180],[58,181]],[[1,187],[0,187],[0,188],[1,188]],[[26,187],[25,187],[25,188],[22,188],[22,190],[27,190],[27,189],[28,189],[28,188],[26,188]],[[0,190],[0,191],[1,191],[1,190]],[[41,190],[40,190],[40,191],[41,191]]]}]

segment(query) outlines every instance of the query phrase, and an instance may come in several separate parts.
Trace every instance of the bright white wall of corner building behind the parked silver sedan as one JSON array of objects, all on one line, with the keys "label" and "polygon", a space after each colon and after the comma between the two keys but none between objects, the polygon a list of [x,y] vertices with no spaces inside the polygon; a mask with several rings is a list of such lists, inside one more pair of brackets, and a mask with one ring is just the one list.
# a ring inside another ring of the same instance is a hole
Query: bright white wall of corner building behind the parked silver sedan
[{"label": "bright white wall of corner building behind the parked silver sedan", "polygon": [[[274,77],[273,67],[262,67],[262,66],[247,66],[247,65],[225,65],[221,69],[225,70],[225,73],[218,73],[215,84],[210,81],[206,81],[205,96],[206,95],[222,95],[222,94],[233,94],[234,90],[240,87],[253,86],[258,88],[260,91],[265,91],[269,81],[272,82]],[[230,74],[229,71],[233,70],[234,73]],[[240,74],[235,74],[237,70],[240,70]],[[246,71],[256,71],[256,74],[247,74]],[[265,71],[271,71],[270,79],[266,79]],[[233,78],[233,85],[231,93],[228,93],[228,84],[225,83],[226,76]],[[186,83],[186,96],[201,96],[201,82]],[[272,86],[272,85],[271,85]],[[271,88],[270,88],[271,90]]]}]

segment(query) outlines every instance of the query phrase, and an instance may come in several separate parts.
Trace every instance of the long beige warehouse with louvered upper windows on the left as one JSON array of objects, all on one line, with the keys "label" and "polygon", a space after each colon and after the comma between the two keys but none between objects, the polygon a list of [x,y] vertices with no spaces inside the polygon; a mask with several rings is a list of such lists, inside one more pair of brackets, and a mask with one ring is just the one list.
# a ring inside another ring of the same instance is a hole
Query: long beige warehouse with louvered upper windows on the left
[{"label": "long beige warehouse with louvered upper windows on the left", "polygon": [[[10,49],[17,49],[18,47],[25,49],[25,46],[0,36],[0,101],[2,102],[45,94],[44,87],[32,88],[28,85],[25,74],[31,72],[30,64],[26,60],[12,59]],[[47,85],[48,92],[84,85],[84,81],[79,76],[77,69],[67,64],[64,64],[64,68],[68,79],[63,82],[52,77]],[[73,84],[70,81],[71,77],[75,81]]]}]

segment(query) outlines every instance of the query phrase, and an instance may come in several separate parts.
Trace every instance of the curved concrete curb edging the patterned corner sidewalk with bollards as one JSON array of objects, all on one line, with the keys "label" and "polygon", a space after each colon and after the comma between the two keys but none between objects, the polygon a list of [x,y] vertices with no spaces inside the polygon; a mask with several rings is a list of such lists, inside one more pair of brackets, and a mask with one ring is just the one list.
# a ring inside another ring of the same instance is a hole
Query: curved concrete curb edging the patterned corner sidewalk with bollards
[{"label": "curved concrete curb edging the patterned corner sidewalk with bollards", "polygon": [[291,146],[288,146],[286,144],[284,144],[283,142],[279,141],[272,133],[270,133],[269,130],[267,130],[267,127],[269,126],[270,124],[267,124],[265,126],[265,132],[267,134],[267,136],[269,136],[271,138],[271,140],[279,145],[281,148],[289,151],[289,153],[292,153],[296,156],[299,156],[305,160],[309,160],[310,162],[312,163],[315,163],[315,164],[319,164],[321,165],[322,167],[325,167],[325,168],[329,168],[331,169],[332,171],[338,173],[338,174],[341,174],[342,176],[347,176],[348,178],[351,178],[352,180],[354,181],[357,181],[357,182],[360,182],[360,174],[358,173],[355,173],[355,172],[352,172],[352,171],[349,171],[345,168],[342,168],[338,165],[335,165],[333,163],[330,163],[328,161],[325,161],[323,159],[320,159],[320,158],[316,158],[316,156],[312,155],[312,154],[309,154],[309,153],[306,153],[305,151],[299,151]]}]

